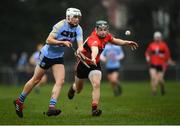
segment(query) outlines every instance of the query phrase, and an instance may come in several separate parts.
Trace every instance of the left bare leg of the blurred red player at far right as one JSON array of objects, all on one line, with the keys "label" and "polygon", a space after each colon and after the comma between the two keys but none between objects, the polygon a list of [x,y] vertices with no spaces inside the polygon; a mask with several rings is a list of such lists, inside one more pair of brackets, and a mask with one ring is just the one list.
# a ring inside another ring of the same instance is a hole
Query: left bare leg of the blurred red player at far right
[{"label": "left bare leg of the blurred red player at far right", "polygon": [[157,78],[157,70],[155,68],[149,69],[150,78],[151,78],[151,88],[152,88],[152,94],[157,94],[157,86],[158,86],[158,78]]}]

